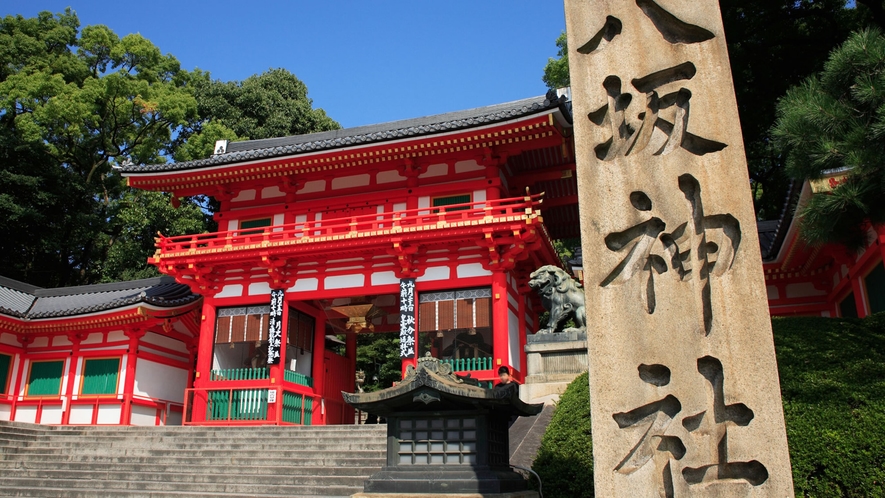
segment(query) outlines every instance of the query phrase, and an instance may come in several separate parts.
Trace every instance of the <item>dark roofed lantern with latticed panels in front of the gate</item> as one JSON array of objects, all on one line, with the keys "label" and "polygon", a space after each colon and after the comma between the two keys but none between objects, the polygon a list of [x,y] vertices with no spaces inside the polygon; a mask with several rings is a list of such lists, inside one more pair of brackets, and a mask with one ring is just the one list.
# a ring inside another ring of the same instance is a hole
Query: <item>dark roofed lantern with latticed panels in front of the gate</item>
[{"label": "dark roofed lantern with latticed panels in front of the gate", "polygon": [[387,418],[387,464],[355,496],[536,496],[526,494],[526,481],[510,468],[509,425],[543,405],[524,403],[518,389],[474,384],[428,355],[394,387],[342,393],[353,407]]}]

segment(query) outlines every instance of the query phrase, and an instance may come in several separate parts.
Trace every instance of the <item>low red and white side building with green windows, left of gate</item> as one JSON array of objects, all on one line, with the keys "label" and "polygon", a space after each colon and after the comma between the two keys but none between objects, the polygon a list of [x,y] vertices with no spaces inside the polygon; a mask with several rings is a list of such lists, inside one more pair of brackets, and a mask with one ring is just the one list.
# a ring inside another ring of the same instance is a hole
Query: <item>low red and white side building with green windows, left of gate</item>
[{"label": "low red and white side building with green windows, left of gate", "polygon": [[58,289],[0,277],[0,420],[181,424],[201,305],[166,276]]}]

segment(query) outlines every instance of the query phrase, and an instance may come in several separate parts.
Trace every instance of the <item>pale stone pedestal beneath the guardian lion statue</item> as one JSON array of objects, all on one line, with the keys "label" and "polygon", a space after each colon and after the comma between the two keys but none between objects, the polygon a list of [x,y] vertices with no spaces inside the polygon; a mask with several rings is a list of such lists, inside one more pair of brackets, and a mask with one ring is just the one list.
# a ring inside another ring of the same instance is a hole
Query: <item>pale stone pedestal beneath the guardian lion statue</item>
[{"label": "pale stone pedestal beneath the guardian lion statue", "polygon": [[587,334],[561,332],[528,336],[523,401],[562,394],[575,377],[587,371]]}]

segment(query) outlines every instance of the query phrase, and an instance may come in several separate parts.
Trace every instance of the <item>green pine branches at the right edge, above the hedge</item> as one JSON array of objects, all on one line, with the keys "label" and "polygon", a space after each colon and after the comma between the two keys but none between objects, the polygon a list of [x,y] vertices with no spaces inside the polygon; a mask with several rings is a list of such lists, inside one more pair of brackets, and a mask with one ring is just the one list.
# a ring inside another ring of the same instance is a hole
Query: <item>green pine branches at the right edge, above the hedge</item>
[{"label": "green pine branches at the right edge, above the hedge", "polygon": [[778,104],[774,128],[788,173],[805,180],[831,170],[847,181],[815,195],[802,209],[802,236],[812,244],[858,248],[865,222],[885,221],[885,37],[878,29],[852,35],[824,70],[791,89]]}]

